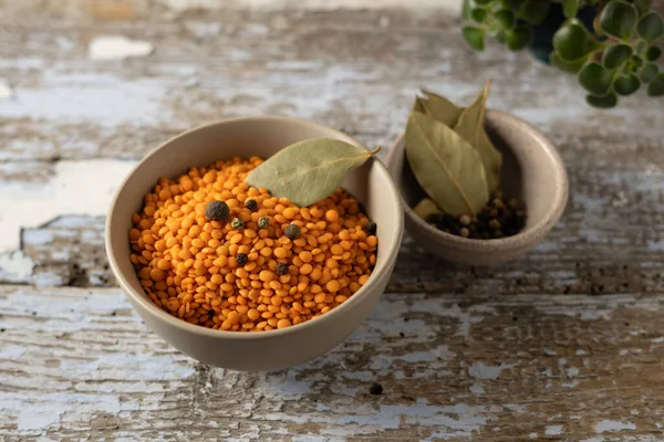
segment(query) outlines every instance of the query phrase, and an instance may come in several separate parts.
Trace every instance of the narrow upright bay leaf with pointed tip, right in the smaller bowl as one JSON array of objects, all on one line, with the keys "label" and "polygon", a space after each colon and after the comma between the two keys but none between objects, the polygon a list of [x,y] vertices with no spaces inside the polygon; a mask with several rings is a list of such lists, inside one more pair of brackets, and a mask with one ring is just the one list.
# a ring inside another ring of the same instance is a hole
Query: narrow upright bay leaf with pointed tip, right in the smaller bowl
[{"label": "narrow upright bay leaf with pointed tip, right in the smaller bowl", "polygon": [[502,155],[496,149],[485,130],[485,115],[490,82],[487,82],[481,94],[466,107],[459,116],[454,130],[473,146],[479,154],[484,165],[489,193],[498,188]]}]

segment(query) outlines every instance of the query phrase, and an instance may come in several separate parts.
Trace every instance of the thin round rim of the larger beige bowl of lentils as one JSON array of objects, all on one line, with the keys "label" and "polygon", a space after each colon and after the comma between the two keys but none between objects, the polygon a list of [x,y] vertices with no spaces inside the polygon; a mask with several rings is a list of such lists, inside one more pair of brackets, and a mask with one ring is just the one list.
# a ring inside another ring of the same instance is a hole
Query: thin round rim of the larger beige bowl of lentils
[{"label": "thin round rim of the larger beige bowl of lentils", "polygon": [[[350,296],[346,302],[344,302],[343,304],[339,305],[336,308],[333,308],[332,311],[321,315],[320,317],[318,317],[315,319],[305,320],[303,323],[291,325],[286,328],[274,328],[272,330],[263,330],[260,333],[239,333],[237,330],[232,332],[232,330],[212,329],[212,328],[204,327],[200,325],[187,323],[186,320],[175,317],[175,316],[166,313],[164,309],[159,308],[157,305],[155,305],[152,302],[152,299],[148,298],[148,296],[145,294],[145,292],[142,291],[141,293],[138,293],[137,291],[133,290],[131,284],[128,283],[127,278],[125,277],[125,275],[120,271],[120,265],[118,265],[120,254],[118,254],[118,251],[113,246],[113,244],[112,244],[113,241],[111,241],[112,214],[115,211],[115,207],[120,202],[118,197],[120,197],[122,190],[124,189],[124,187],[126,186],[127,181],[138,171],[138,169],[141,169],[141,167],[149,158],[158,155],[158,152],[164,147],[174,143],[177,139],[185,138],[195,131],[204,130],[204,129],[210,128],[212,126],[225,126],[225,125],[232,125],[232,124],[237,124],[237,123],[246,123],[246,122],[251,122],[251,120],[258,122],[258,123],[261,123],[261,122],[263,122],[263,123],[266,123],[266,122],[297,123],[300,125],[313,127],[315,129],[323,129],[326,131],[331,131],[334,135],[338,135],[341,139],[352,140],[356,145],[362,146],[363,148],[366,148],[363,144],[355,140],[350,135],[346,135],[346,134],[342,133],[341,130],[333,129],[333,128],[322,125],[320,123],[315,123],[315,122],[312,122],[309,119],[303,119],[303,118],[288,117],[288,116],[256,115],[256,116],[232,117],[232,118],[227,118],[227,119],[220,119],[220,120],[216,120],[212,123],[204,124],[204,125],[187,129],[183,133],[179,133],[179,134],[170,137],[169,139],[163,141],[163,143],[160,143],[157,147],[155,147],[154,149],[148,151],[138,162],[136,162],[136,165],[134,165],[132,170],[125,176],[125,178],[122,180],[122,182],[115,189],[115,192],[113,193],[113,198],[111,200],[111,204],[108,206],[108,211],[106,212],[106,222],[105,222],[105,229],[104,229],[104,236],[105,236],[104,245],[106,248],[106,256],[108,257],[108,263],[111,265],[111,270],[113,271],[113,274],[117,278],[120,287],[124,292],[125,296],[127,298],[129,298],[129,301],[137,303],[141,307],[143,307],[146,311],[147,314],[153,315],[153,317],[155,319],[165,322],[168,325],[180,329],[181,332],[198,334],[198,335],[211,337],[211,338],[242,339],[242,340],[272,339],[272,338],[278,338],[280,336],[305,332],[308,328],[315,327],[317,324],[322,325],[324,322],[331,322],[331,320],[336,320],[338,318],[341,318],[340,315],[343,315],[345,311],[353,308],[355,305],[362,303],[369,296],[370,292],[375,288],[375,286],[378,284],[380,280],[383,280],[384,277],[390,277],[390,267],[391,267],[390,261],[394,260],[396,257],[396,255],[398,254],[398,250],[400,250],[402,239],[403,239],[403,230],[404,230],[404,213],[402,210],[398,210],[397,213],[395,214],[395,217],[397,218],[397,220],[396,220],[397,222],[395,224],[397,227],[397,232],[395,232],[395,234],[394,234],[394,240],[392,241],[391,244],[385,244],[385,246],[388,248],[387,254],[384,257],[385,265],[382,265],[377,271],[374,270],[374,272],[372,272],[372,274],[371,274],[372,277],[369,278],[366,284],[364,284],[362,287],[360,287],[360,290],[357,292],[355,292],[352,296]],[[401,196],[400,196],[398,189],[396,188],[396,185],[394,183],[394,180],[392,179],[392,175],[390,175],[390,171],[387,170],[385,165],[377,158],[371,158],[370,161],[374,161],[374,165],[372,165],[372,167],[377,167],[383,172],[384,177],[387,178],[386,187],[388,189],[388,193],[391,194],[391,198],[396,201],[396,206],[401,207],[402,203],[401,203]],[[126,259],[128,260],[128,256]],[[136,309],[136,307],[134,307],[134,309]],[[139,314],[139,316],[141,316],[141,314]],[[148,327],[148,328],[152,329],[152,327]]]}]

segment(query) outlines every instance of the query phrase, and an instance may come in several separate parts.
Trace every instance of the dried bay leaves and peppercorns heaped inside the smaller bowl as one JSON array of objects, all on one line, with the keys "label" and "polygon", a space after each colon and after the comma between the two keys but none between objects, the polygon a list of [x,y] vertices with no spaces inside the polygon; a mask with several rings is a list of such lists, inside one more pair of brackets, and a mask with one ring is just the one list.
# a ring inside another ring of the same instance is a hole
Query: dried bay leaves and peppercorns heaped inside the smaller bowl
[{"label": "dried bay leaves and peppercorns heaped inside the smaller bowl", "polygon": [[502,155],[485,129],[489,85],[466,108],[423,91],[406,126],[406,158],[429,197],[413,210],[437,229],[470,239],[509,236],[525,225],[523,204],[507,202],[498,190]]}]

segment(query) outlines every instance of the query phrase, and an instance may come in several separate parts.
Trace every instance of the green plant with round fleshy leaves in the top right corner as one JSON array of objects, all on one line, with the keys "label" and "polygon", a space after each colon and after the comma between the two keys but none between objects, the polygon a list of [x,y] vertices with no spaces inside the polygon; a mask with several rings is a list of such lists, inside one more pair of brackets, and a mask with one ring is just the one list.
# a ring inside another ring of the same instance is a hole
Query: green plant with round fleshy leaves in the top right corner
[{"label": "green plant with round fleshy leaves in the top right corner", "polygon": [[[530,45],[533,27],[541,23],[554,0],[464,0],[466,24],[461,34],[468,45],[483,51],[491,38],[518,51]],[[664,21],[651,10],[652,0],[558,0],[564,23],[553,35],[551,64],[575,74],[587,102],[613,107],[619,96],[642,86],[647,95],[664,95],[664,72],[655,62],[656,45],[664,38]],[[593,29],[578,19],[582,8],[595,8]]]}]

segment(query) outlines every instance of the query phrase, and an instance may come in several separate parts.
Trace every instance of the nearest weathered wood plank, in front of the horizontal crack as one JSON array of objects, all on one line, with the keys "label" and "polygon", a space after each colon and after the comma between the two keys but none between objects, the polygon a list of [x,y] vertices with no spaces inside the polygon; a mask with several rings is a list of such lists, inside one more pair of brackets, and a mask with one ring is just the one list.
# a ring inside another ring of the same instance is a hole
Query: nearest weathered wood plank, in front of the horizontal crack
[{"label": "nearest weathered wood plank, in front of the horizontal crack", "polygon": [[178,354],[115,288],[0,299],[4,440],[663,435],[662,294],[386,294],[344,345],[270,373]]}]

